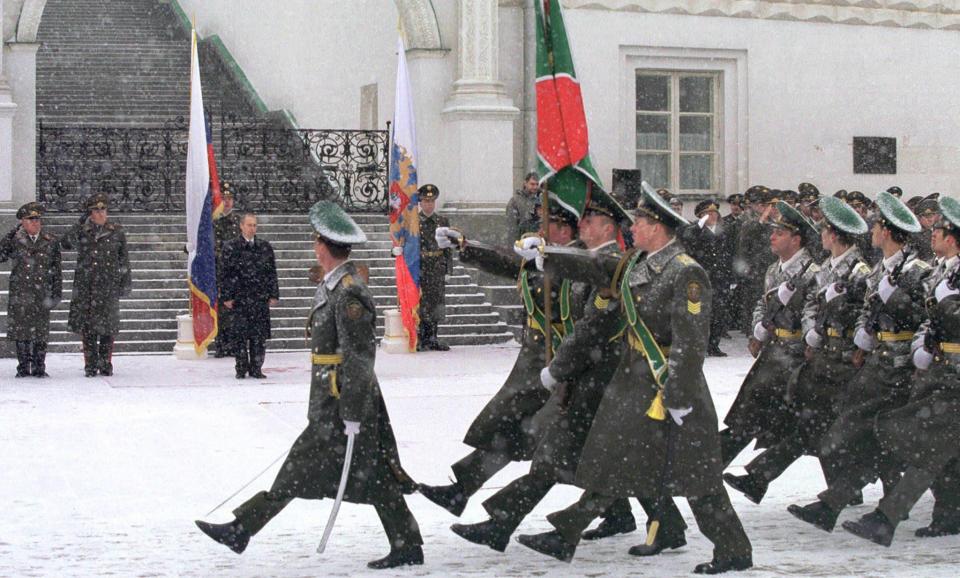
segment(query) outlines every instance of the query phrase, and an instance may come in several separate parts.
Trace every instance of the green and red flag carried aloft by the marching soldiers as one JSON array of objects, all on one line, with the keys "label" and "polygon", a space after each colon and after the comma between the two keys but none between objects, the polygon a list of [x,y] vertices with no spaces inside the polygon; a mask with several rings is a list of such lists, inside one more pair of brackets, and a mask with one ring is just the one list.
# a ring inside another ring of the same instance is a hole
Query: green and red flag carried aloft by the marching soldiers
[{"label": "green and red flag carried aloft by the marching soldiers", "polygon": [[[541,184],[558,203],[583,214],[600,177],[590,161],[587,117],[558,0],[536,0],[537,159]],[[602,192],[600,194],[603,194]]]}]

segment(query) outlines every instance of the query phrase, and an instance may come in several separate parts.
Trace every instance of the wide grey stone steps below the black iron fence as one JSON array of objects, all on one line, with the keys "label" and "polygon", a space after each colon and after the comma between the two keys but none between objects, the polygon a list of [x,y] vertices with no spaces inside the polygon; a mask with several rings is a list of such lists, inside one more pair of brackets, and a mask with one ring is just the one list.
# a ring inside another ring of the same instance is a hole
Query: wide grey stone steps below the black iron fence
[{"label": "wide grey stone steps below the black iron fence", "polygon": [[[376,299],[378,336],[383,335],[383,310],[396,307],[396,279],[384,217],[355,215],[368,242],[352,258],[370,267],[370,288]],[[121,330],[116,351],[171,352],[176,341],[176,316],[188,307],[186,242],[182,215],[112,215],[127,233],[133,291],[120,301]],[[48,216],[48,230],[58,233],[76,222],[75,216]],[[304,326],[314,290],[307,272],[315,264],[310,227],[303,215],[262,215],[258,235],[270,241],[277,258],[280,304],[272,310],[270,349],[304,349]],[[80,351],[79,336],[67,331],[76,253],[64,252],[63,302],[51,314],[50,350]],[[0,271],[0,338],[6,334],[10,270]],[[447,283],[447,320],[440,335],[450,345],[500,343],[513,333],[500,321],[469,271],[455,268]]]}]

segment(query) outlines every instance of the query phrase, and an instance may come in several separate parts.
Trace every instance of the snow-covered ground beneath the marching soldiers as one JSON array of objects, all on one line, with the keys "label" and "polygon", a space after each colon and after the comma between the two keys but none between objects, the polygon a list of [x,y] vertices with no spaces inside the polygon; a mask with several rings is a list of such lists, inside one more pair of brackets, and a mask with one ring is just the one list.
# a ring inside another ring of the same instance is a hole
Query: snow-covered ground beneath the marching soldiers
[{"label": "snow-covered ground beneath the marching soldiers", "polygon": [[[731,357],[707,361],[723,415],[752,360],[743,341],[725,342]],[[516,346],[454,348],[449,353],[380,353],[377,373],[404,466],[419,481],[443,483],[467,448],[468,424],[497,390]],[[691,526],[688,546],[653,559],[627,549],[643,533],[584,542],[570,565],[512,544],[505,554],[465,542],[455,521],[419,495],[409,498],[426,545],[426,564],[374,573],[386,539],[370,506],[345,504],[327,552],[314,553],[332,501],[294,501],[242,556],[215,544],[196,518],[226,521],[230,510],[269,487],[279,462],[214,513],[207,512],[281,456],[306,421],[306,353],[269,353],[266,380],[233,379],[230,359],[176,361],[120,356],[110,378],[82,377],[78,355],[51,355],[47,380],[14,379],[15,361],[0,360],[0,576],[685,576],[710,559],[710,544]],[[744,452],[732,471],[750,458]],[[463,520],[484,518],[480,502],[526,471],[512,464],[471,501]],[[731,492],[753,541],[755,568],[745,576],[957,576],[960,540],[920,540],[929,494],[901,524],[892,548],[839,529],[826,534],[795,520],[787,505],[806,503],[823,487],[816,462],[804,458],[761,506]],[[544,516],[579,490],[555,488],[518,533],[550,529]],[[872,509],[879,488],[865,492]],[[642,521],[642,510],[634,504]]]}]

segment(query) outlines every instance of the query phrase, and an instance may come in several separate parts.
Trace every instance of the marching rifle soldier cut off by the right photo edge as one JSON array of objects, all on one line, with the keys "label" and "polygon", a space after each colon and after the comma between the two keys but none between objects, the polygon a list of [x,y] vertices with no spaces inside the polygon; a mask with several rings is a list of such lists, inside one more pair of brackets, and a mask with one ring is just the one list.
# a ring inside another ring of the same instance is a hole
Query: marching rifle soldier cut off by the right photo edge
[{"label": "marching rifle soldier cut off by the right photo edge", "polygon": [[843,523],[848,532],[884,546],[927,489],[936,499],[933,521],[916,535],[960,534],[960,202],[942,197],[937,212],[943,218],[933,226],[932,241],[942,261],[927,280],[927,320],[913,339],[917,378],[910,401],[880,414],[876,423],[880,445],[906,465],[903,478],[884,493],[876,510]]}]

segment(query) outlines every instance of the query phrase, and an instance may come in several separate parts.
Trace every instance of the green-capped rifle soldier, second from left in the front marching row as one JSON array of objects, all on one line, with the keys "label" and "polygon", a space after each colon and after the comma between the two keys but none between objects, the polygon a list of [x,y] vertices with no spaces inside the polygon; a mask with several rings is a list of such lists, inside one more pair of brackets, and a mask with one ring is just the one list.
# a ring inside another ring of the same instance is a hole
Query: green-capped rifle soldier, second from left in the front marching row
[{"label": "green-capped rifle soldier, second from left in the front marching row", "polygon": [[[820,239],[830,256],[820,264],[816,291],[804,305],[806,360],[788,384],[797,421],[790,433],[747,464],[746,475],[723,475],[732,488],[757,504],[770,483],[798,458],[819,455],[820,439],[836,419],[837,395],[856,373],[850,363],[853,329],[870,274],[856,238],[867,232],[867,224],[839,199],[824,197],[819,205],[824,215]],[[824,475],[832,479],[829,469]]]}]

